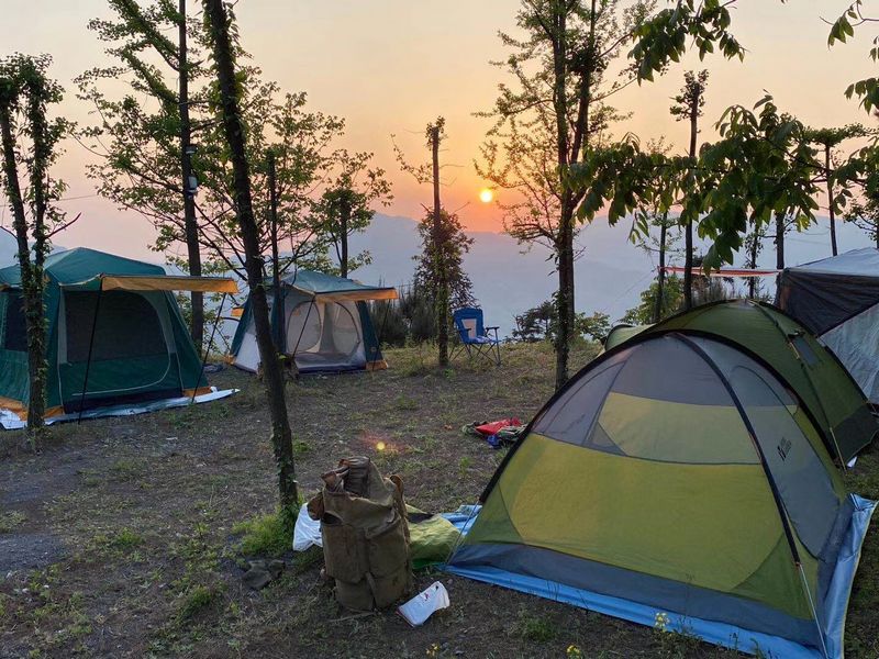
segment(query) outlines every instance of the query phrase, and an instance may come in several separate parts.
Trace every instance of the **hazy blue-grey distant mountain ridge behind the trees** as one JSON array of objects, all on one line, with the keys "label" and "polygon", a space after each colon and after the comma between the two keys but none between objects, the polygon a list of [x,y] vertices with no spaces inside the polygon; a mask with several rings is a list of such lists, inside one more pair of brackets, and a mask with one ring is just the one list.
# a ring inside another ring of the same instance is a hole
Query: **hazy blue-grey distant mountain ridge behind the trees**
[{"label": "hazy blue-grey distant mountain ridge behind the trees", "polygon": [[[628,241],[630,225],[620,222],[609,226],[599,217],[585,227],[579,236],[583,254],[576,264],[577,311],[602,311],[612,321],[638,303],[638,294],[647,288],[656,272],[656,257]],[[788,265],[803,264],[831,255],[826,220],[802,234],[787,237]],[[468,232],[474,238],[464,266],[474,282],[474,293],[486,312],[486,321],[500,325],[508,335],[515,326],[514,316],[548,300],[556,289],[557,278],[549,250],[535,245],[531,250],[502,233]],[[874,245],[856,226],[837,225],[839,252]],[[370,227],[352,237],[352,253],[368,249],[372,263],[353,273],[366,282],[407,286],[412,281],[414,261],[419,254],[418,224],[409,217],[377,214]],[[100,245],[87,245],[100,249]],[[705,244],[697,245],[706,248]],[[64,249],[64,247],[58,247]],[[0,232],[0,266],[15,263],[15,241]],[[155,259],[149,259],[155,260]],[[742,265],[737,258],[736,264]],[[678,264],[679,265],[679,264]],[[771,239],[764,242],[758,266],[775,267]],[[766,280],[771,292],[774,281]]]}]

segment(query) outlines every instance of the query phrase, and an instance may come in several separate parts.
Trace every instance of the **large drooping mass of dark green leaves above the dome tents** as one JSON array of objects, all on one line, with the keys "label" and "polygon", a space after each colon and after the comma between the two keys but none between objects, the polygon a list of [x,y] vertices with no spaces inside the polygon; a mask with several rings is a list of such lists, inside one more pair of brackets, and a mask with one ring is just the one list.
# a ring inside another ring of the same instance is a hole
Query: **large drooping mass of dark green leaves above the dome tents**
[{"label": "large drooping mass of dark green leaves above the dome tents", "polygon": [[752,224],[778,214],[800,226],[813,222],[822,165],[806,129],[781,114],[769,96],[750,110],[728,108],[717,125],[722,139],[703,146],[696,160],[644,152],[632,136],[593,153],[569,174],[586,191],[579,219],[591,221],[607,209],[614,224],[634,214],[635,231],[643,232],[639,214],[676,209],[679,223],[692,221],[713,241],[705,269],[732,263]]}]

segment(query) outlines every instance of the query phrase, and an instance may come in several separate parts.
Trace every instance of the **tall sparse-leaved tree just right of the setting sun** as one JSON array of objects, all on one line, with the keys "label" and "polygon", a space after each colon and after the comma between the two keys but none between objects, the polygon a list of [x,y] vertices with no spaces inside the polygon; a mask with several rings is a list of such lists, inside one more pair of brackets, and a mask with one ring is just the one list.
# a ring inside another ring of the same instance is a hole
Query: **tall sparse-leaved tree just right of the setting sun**
[{"label": "tall sparse-leaved tree just right of the setting sun", "polygon": [[568,379],[575,325],[575,216],[587,191],[569,185],[567,171],[601,141],[616,113],[609,98],[634,81],[628,66],[610,70],[652,0],[623,7],[617,0],[522,0],[516,25],[522,38],[501,33],[511,49],[498,66],[513,85],[501,83],[479,174],[513,191],[502,204],[504,227],[524,244],[553,253],[558,276],[556,387]]}]

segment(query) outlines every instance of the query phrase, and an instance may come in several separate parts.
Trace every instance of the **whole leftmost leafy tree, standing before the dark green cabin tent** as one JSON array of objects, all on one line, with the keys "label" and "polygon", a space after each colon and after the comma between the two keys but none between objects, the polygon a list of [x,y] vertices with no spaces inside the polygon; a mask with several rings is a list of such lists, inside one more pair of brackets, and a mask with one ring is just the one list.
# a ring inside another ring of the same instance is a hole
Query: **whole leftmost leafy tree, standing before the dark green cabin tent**
[{"label": "whole leftmost leafy tree, standing before the dark green cabin tent", "polygon": [[[43,266],[52,236],[69,226],[53,200],[66,189],[49,179],[58,144],[69,130],[64,119],[49,119],[59,103],[60,86],[48,77],[51,57],[13,55],[0,60],[0,149],[2,182],[12,211],[21,271],[22,306],[27,335],[29,436],[43,429],[46,407],[46,317]],[[14,298],[11,304],[18,303]]]}]

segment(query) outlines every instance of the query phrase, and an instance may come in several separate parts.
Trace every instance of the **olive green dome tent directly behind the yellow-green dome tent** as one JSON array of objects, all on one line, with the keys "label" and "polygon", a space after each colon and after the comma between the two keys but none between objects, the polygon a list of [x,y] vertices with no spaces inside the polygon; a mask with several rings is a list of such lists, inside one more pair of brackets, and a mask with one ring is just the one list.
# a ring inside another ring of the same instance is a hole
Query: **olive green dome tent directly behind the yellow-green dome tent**
[{"label": "olive green dome tent directly behind the yellow-green dome tent", "polygon": [[802,400],[827,450],[847,463],[876,436],[864,393],[836,356],[780,309],[753,300],[699,306],[656,325],[615,327],[605,348],[634,336],[681,331],[734,344],[778,373]]}]

